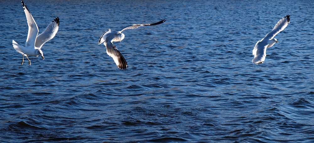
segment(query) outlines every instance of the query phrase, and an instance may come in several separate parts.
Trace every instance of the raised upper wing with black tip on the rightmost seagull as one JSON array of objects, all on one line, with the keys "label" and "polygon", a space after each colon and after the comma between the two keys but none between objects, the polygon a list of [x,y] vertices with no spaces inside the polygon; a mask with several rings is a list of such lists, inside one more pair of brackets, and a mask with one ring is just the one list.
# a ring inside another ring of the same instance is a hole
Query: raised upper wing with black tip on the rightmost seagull
[{"label": "raised upper wing with black tip on the rightmost seagull", "polygon": [[281,18],[273,30],[265,36],[265,39],[273,39],[280,31],[284,30],[284,28],[288,26],[288,23],[290,23],[290,15],[286,15],[285,17]]}]

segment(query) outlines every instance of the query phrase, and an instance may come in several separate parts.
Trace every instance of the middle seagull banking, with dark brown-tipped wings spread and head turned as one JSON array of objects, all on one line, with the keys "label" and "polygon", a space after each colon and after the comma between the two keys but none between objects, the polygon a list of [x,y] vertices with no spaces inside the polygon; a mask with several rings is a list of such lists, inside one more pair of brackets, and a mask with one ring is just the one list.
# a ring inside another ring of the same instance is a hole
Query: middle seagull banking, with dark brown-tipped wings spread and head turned
[{"label": "middle seagull banking, with dark brown-tipped wings spread and head turned", "polygon": [[133,24],[128,25],[125,27],[122,27],[117,32],[111,32],[111,30],[107,30],[105,33],[103,33],[98,41],[98,44],[104,43],[106,46],[107,54],[112,57],[112,59],[115,61],[116,65],[119,69],[125,70],[127,69],[127,61],[124,59],[120,51],[116,48],[116,46],[112,42],[121,42],[124,39],[124,34],[122,31],[127,29],[136,29],[140,26],[152,26],[152,25],[158,25],[161,23],[164,23],[166,20],[161,20],[156,23],[151,24]]}]

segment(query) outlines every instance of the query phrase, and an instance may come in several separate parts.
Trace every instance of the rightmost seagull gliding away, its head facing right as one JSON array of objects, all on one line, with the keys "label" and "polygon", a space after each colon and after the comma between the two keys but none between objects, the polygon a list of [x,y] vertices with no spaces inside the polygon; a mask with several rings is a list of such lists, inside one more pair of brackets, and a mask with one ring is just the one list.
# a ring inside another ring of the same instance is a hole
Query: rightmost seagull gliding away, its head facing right
[{"label": "rightmost seagull gliding away, its head facing right", "polygon": [[284,30],[290,23],[290,15],[286,15],[281,18],[273,30],[269,32],[262,40],[257,41],[253,49],[254,59],[252,63],[262,64],[266,58],[266,49],[278,43],[277,39],[274,38],[280,31]]}]

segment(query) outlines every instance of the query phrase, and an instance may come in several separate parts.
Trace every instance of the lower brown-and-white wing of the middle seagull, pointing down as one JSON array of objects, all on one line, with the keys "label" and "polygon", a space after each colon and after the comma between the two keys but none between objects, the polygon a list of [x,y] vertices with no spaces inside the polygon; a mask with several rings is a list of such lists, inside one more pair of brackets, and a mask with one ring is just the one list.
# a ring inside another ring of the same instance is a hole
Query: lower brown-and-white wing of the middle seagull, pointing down
[{"label": "lower brown-and-white wing of the middle seagull, pointing down", "polygon": [[119,69],[127,69],[127,61],[112,42],[105,42],[107,54],[112,57]]}]

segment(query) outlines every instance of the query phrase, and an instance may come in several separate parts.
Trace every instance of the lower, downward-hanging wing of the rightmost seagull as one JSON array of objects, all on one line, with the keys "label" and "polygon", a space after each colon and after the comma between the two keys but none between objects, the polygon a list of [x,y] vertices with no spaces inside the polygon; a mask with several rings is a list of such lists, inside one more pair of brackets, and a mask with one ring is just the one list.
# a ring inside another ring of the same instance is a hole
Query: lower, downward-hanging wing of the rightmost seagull
[{"label": "lower, downward-hanging wing of the rightmost seagull", "polygon": [[253,49],[253,55],[254,59],[252,60],[255,64],[262,64],[266,58],[266,49],[267,49],[268,43],[267,41],[258,41],[255,44],[255,47]]}]

